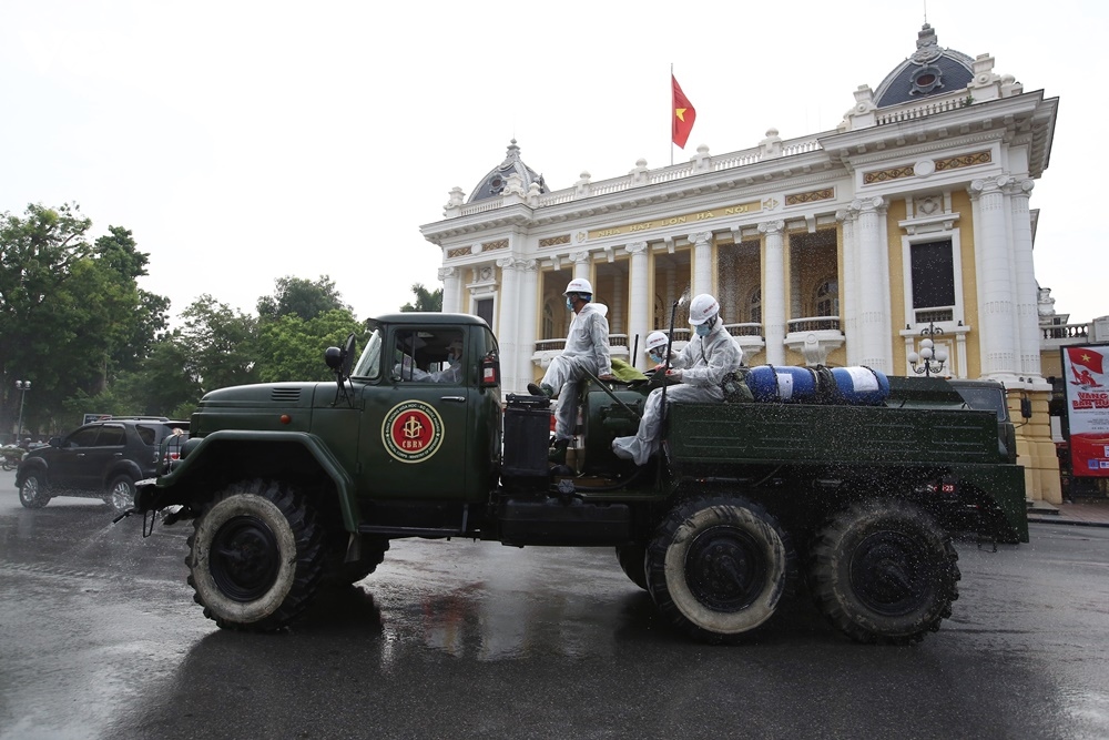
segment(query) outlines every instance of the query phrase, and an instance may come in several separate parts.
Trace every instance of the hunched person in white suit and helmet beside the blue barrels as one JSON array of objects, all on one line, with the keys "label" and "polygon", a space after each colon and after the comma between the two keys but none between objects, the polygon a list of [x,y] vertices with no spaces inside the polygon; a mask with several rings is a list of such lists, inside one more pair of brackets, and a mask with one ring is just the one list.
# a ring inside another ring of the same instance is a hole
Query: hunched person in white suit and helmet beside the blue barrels
[{"label": "hunched person in white suit and helmet beside the blue barrels", "polygon": [[[665,372],[670,382],[680,383],[665,388],[667,403],[723,402],[721,383],[725,375],[740,368],[743,351],[724,328],[716,298],[708,293],[702,293],[690,302],[690,324],[694,330],[692,341],[670,362],[669,367],[657,371]],[[660,353],[665,351],[663,346]],[[612,440],[612,452],[617,457],[643,465],[659,449],[662,392],[663,388],[655,388],[647,397],[643,418],[640,419],[639,432],[634,436]]]}]

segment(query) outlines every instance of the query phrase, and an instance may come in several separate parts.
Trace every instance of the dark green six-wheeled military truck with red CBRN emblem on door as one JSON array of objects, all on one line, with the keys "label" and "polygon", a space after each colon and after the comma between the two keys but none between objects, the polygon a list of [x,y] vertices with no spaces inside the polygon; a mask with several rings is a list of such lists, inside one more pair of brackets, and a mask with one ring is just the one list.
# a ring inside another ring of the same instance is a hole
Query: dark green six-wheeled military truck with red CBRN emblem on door
[{"label": "dark green six-wheeled military truck with red CBRN emblem on door", "polygon": [[353,335],[326,351],[335,382],[206,394],[180,460],[139,486],[144,535],[160,511],[192,520],[189,582],[220,627],[283,628],[321,588],[372,574],[393,539],[457,537],[613,548],[665,620],[706,642],[739,641],[798,586],[849,638],[907,643],[950,616],[953,534],[1028,538],[995,415],[937,378],[876,405],[672,404],[641,467],[611,443],[634,434],[657,382],[594,378],[552,463],[549,402],[502,398],[485,321],[401,313],[369,328],[357,362]]}]

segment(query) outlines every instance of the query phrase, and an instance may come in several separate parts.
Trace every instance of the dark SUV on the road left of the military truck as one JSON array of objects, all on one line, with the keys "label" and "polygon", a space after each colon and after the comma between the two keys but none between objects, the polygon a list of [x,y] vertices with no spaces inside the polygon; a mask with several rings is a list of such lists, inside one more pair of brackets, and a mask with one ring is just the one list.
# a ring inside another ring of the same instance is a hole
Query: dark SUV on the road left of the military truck
[{"label": "dark SUV on the road left of the military truck", "polygon": [[53,437],[20,463],[19,501],[37,509],[55,496],[101,498],[122,514],[134,505],[135,481],[157,475],[187,429],[189,422],[164,417],[113,417]]}]

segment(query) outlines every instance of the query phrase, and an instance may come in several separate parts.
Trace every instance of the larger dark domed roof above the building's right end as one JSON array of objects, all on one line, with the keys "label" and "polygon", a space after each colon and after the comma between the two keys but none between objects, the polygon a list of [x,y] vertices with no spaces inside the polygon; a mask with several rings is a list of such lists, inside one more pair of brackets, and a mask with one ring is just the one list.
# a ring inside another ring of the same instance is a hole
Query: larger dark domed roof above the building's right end
[{"label": "larger dark domed roof above the building's right end", "polygon": [[877,90],[878,108],[898,105],[930,95],[946,95],[963,90],[974,79],[974,60],[959,51],[944,49],[927,23],[916,39],[916,52],[894,68]]}]

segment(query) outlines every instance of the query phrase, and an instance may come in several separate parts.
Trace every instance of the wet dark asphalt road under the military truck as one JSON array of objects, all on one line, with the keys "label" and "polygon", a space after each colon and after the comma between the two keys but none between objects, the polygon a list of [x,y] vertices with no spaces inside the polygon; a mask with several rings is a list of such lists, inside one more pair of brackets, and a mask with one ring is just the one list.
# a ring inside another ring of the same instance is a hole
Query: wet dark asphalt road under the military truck
[{"label": "wet dark asphalt road under the military truck", "polygon": [[673,633],[608,549],[396,541],[278,635],[220,630],[189,526],[20,507],[0,473],[0,740],[1106,738],[1109,529],[960,544],[918,646],[847,642],[803,600],[741,646]]}]

